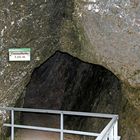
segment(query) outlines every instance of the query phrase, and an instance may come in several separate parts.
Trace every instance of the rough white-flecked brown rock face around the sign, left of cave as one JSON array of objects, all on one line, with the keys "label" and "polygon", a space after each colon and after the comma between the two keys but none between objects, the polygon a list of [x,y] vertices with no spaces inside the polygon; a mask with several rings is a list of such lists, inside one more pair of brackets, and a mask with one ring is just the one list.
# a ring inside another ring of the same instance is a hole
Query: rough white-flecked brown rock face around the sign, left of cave
[{"label": "rough white-flecked brown rock face around the sign, left of cave", "polygon": [[[34,67],[59,50],[59,31],[67,7],[65,0],[0,2],[1,105],[14,105]],[[31,48],[31,62],[8,62],[8,49],[15,47]]]}]

